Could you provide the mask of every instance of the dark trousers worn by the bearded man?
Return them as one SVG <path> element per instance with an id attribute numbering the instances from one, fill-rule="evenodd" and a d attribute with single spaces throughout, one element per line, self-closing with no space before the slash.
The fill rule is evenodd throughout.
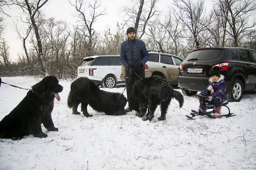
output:
<path id="1" fill-rule="evenodd" d="M 140 77 L 138 77 L 136 74 Z M 135 73 L 130 73 L 129 70 L 125 70 L 125 85 L 126 85 L 126 94 L 127 94 L 127 101 L 130 107 L 130 102 L 132 100 L 132 86 L 135 81 L 140 80 L 141 78 L 145 78 L 145 69 L 136 70 Z"/>

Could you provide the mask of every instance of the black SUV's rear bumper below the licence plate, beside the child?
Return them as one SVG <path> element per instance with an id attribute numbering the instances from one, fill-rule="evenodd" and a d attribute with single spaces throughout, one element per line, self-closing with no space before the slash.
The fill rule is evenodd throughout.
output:
<path id="1" fill-rule="evenodd" d="M 202 77 L 183 77 L 178 78 L 178 85 L 182 90 L 204 91 L 208 86 L 209 78 Z"/>

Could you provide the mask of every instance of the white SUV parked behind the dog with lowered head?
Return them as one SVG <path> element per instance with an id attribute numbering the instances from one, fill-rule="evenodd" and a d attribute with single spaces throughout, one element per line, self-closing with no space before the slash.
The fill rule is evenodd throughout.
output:
<path id="1" fill-rule="evenodd" d="M 95 55 L 85 57 L 77 68 L 78 77 L 87 77 L 95 84 L 108 88 L 124 83 L 120 79 L 122 64 L 119 55 Z"/>

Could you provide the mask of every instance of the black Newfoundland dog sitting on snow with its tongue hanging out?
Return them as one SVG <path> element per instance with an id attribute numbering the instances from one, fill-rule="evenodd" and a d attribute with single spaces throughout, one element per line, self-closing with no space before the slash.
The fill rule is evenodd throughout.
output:
<path id="1" fill-rule="evenodd" d="M 0 122 L 0 138 L 13 140 L 23 136 L 47 137 L 41 124 L 49 131 L 58 131 L 52 122 L 54 97 L 60 101 L 59 92 L 63 87 L 54 76 L 47 76 L 32 86 L 23 100 Z"/>

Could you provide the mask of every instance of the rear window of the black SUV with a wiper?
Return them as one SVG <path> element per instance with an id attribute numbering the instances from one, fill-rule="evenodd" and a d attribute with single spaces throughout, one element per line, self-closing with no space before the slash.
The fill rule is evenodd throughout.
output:
<path id="1" fill-rule="evenodd" d="M 185 58 L 185 61 L 207 61 L 215 60 L 221 57 L 224 50 L 222 49 L 204 49 L 193 51 Z"/>

